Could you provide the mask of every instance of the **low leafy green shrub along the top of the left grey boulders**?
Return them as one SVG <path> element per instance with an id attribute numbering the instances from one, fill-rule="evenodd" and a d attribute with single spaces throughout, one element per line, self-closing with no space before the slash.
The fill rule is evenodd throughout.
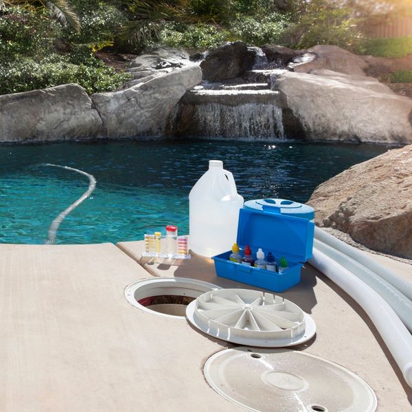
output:
<path id="1" fill-rule="evenodd" d="M 41 60 L 24 57 L 3 62 L 0 64 L 0 94 L 66 83 L 80 84 L 87 93 L 112 91 L 131 77 L 129 73 L 116 73 L 113 67 L 93 56 L 80 64 L 73 61 L 76 61 L 76 56 L 51 54 Z"/>

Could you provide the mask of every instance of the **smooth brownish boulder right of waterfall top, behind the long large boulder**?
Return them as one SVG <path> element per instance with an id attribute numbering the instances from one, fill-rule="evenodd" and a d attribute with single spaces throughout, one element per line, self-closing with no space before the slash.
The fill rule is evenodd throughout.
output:
<path id="1" fill-rule="evenodd" d="M 307 53 L 290 62 L 290 69 L 300 73 L 310 73 L 314 69 L 328 69 L 340 73 L 365 76 L 367 62 L 356 54 L 338 46 L 317 45 Z"/>

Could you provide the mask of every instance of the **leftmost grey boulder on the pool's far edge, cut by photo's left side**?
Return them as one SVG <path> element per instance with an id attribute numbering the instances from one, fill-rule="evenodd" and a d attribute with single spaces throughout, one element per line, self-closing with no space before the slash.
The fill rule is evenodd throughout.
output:
<path id="1" fill-rule="evenodd" d="M 0 141 L 97 137 L 102 120 L 78 84 L 0 95 Z"/>

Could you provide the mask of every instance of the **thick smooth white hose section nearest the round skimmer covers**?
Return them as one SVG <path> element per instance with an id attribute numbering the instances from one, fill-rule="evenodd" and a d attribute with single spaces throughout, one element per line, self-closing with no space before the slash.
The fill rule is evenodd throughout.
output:
<path id="1" fill-rule="evenodd" d="M 365 282 L 318 249 L 313 249 L 313 257 L 308 262 L 362 306 L 412 387 L 412 335 L 391 306 Z"/>

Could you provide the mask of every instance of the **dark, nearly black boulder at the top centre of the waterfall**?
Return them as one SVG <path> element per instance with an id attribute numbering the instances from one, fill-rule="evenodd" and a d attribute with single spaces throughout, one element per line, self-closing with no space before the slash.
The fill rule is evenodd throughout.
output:
<path id="1" fill-rule="evenodd" d="M 255 51 L 240 41 L 211 50 L 201 62 L 203 80 L 221 82 L 241 77 L 255 64 Z"/>

